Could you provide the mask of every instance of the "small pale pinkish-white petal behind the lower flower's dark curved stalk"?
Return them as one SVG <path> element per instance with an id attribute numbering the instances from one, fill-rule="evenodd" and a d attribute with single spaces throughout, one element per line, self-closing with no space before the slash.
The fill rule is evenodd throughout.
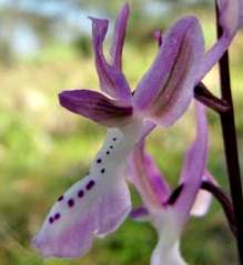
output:
<path id="1" fill-rule="evenodd" d="M 205 173 L 203 175 L 203 181 L 204 180 L 213 182 L 213 183 L 216 184 L 213 176 L 207 171 L 205 171 Z M 195 202 L 194 202 L 194 204 L 191 208 L 190 214 L 193 215 L 193 216 L 196 216 L 196 217 L 204 216 L 209 212 L 209 208 L 212 204 L 212 198 L 213 197 L 212 197 L 212 194 L 210 192 L 204 191 L 204 190 L 200 190 L 198 195 L 196 195 Z"/>

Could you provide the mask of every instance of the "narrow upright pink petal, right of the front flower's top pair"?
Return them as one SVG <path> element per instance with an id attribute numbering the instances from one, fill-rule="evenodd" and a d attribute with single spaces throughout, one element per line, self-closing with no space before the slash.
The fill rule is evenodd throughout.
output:
<path id="1" fill-rule="evenodd" d="M 130 12 L 129 3 L 125 3 L 117 18 L 114 27 L 114 38 L 111 50 L 111 57 L 112 64 L 119 70 L 122 69 L 122 49 L 124 45 L 129 12 Z"/>

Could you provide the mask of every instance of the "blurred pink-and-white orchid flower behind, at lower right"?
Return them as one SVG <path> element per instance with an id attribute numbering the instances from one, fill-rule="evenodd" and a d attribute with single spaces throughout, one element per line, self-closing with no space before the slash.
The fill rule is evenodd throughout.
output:
<path id="1" fill-rule="evenodd" d="M 183 265 L 180 255 L 180 235 L 192 215 L 206 213 L 211 194 L 200 191 L 203 180 L 211 181 L 205 170 L 207 157 L 207 124 L 204 106 L 196 104 L 196 139 L 184 156 L 180 185 L 171 192 L 152 157 L 144 151 L 141 141 L 131 154 L 130 179 L 139 191 L 145 208 L 132 212 L 134 218 L 149 220 L 158 231 L 159 243 L 153 252 L 151 265 Z"/>

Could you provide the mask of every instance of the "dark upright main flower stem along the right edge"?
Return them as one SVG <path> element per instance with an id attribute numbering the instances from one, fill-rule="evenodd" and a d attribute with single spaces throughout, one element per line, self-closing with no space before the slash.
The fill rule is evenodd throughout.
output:
<path id="1" fill-rule="evenodd" d="M 216 8 L 217 14 L 217 38 L 222 35 L 222 28 L 219 23 L 219 9 Z M 229 53 L 224 53 L 220 60 L 220 82 L 221 82 L 221 94 L 222 100 L 227 102 L 230 109 L 226 112 L 222 112 L 221 126 L 224 142 L 224 153 L 226 159 L 227 175 L 231 188 L 231 197 L 235 215 L 236 226 L 236 243 L 239 249 L 240 264 L 243 265 L 243 204 L 242 204 L 242 183 L 241 172 L 237 155 L 237 142 L 236 131 L 234 122 L 234 108 L 231 94 L 231 79 L 230 79 L 230 67 L 229 67 Z"/>

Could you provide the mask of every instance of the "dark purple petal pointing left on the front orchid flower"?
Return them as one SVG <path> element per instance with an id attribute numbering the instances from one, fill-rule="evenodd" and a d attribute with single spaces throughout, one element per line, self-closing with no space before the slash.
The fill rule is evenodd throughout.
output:
<path id="1" fill-rule="evenodd" d="M 107 126 L 124 125 L 132 115 L 131 106 L 119 105 L 103 94 L 91 90 L 71 90 L 59 94 L 60 104 L 77 114 Z"/>

